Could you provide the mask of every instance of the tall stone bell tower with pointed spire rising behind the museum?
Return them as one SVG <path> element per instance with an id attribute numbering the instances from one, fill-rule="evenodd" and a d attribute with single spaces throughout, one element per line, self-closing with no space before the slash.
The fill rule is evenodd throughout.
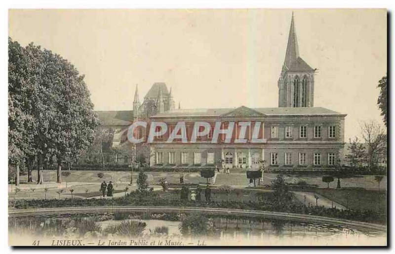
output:
<path id="1" fill-rule="evenodd" d="M 313 107 L 315 71 L 299 56 L 292 12 L 284 64 L 277 84 L 278 107 Z"/>

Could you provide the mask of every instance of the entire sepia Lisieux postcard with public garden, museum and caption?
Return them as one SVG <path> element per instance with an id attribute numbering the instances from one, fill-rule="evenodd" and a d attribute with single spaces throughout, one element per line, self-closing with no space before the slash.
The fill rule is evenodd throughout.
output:
<path id="1" fill-rule="evenodd" d="M 10 246 L 387 246 L 386 9 L 8 15 Z"/>

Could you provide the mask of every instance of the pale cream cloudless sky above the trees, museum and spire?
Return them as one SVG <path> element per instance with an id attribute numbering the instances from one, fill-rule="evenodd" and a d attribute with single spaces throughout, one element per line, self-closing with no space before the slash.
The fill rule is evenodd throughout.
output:
<path id="1" fill-rule="evenodd" d="M 300 56 L 313 68 L 315 106 L 382 123 L 385 9 L 11 9 L 9 36 L 74 64 L 95 110 L 132 110 L 155 82 L 181 108 L 277 107 L 292 11 Z"/>

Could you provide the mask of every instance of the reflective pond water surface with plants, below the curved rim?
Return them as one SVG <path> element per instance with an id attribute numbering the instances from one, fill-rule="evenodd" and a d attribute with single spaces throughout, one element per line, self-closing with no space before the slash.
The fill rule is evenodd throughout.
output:
<path id="1" fill-rule="evenodd" d="M 339 235 L 385 235 L 385 232 L 361 231 L 336 224 L 249 219 L 234 216 L 205 216 L 204 220 L 195 216 L 196 218 L 190 220 L 187 229 L 185 229 L 185 223 L 189 217 L 191 216 L 183 214 L 137 213 L 22 217 L 10 218 L 8 228 L 12 233 L 59 237 L 119 235 L 125 230 L 129 235 L 187 237 L 200 234 L 210 235 L 210 237 L 217 239 L 238 239 L 240 236 L 247 239 L 264 239 L 268 236 L 331 238 Z M 134 222 L 144 222 L 144 228 L 141 228 L 141 223 Z M 205 223 L 205 226 L 201 225 L 202 222 Z M 134 224 L 139 225 L 140 228 L 130 228 Z M 127 228 L 125 229 L 125 227 Z"/>

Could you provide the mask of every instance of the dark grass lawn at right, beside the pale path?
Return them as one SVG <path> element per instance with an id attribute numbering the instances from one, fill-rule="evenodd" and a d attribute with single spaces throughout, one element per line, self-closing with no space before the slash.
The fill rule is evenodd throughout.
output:
<path id="1" fill-rule="evenodd" d="M 387 211 L 387 191 L 316 189 L 315 192 L 355 210 Z"/>

